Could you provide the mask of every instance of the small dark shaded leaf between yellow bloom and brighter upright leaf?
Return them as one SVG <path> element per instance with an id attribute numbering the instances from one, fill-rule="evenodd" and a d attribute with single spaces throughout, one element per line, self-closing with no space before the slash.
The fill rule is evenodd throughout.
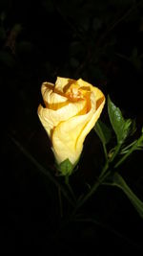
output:
<path id="1" fill-rule="evenodd" d="M 108 128 L 101 120 L 98 120 L 94 130 L 103 144 L 108 144 L 112 137 L 111 129 Z"/>

